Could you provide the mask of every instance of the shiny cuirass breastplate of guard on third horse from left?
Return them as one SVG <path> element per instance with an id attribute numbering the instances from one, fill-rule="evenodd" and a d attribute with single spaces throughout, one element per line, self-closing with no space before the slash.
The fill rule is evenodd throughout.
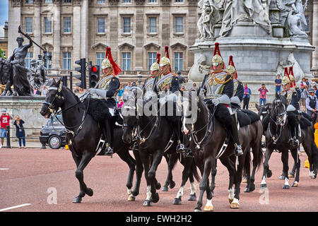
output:
<path id="1" fill-rule="evenodd" d="M 220 81 L 225 81 L 226 76 L 228 76 L 228 73 L 224 71 L 216 73 L 214 76 L 213 73 L 208 76 L 205 82 L 207 98 L 220 97 L 222 95 L 225 83 L 220 83 Z"/>

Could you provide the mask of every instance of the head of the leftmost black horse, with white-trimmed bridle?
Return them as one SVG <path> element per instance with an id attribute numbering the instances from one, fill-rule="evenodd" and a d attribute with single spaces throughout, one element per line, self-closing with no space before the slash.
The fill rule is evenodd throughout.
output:
<path id="1" fill-rule="evenodd" d="M 61 94 L 62 84 L 61 78 L 58 81 L 53 79 L 51 86 L 48 88 L 45 102 L 43 102 L 40 114 L 43 117 L 48 118 L 52 113 L 57 112 L 59 107 L 64 103 L 64 96 Z"/>

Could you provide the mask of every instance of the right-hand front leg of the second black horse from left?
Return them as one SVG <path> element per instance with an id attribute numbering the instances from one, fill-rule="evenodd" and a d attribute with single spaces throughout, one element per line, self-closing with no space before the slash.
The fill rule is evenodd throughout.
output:
<path id="1" fill-rule="evenodd" d="M 151 182 L 151 201 L 153 203 L 158 203 L 159 201 L 159 194 L 156 192 L 155 188 L 155 171 L 158 168 L 158 165 L 160 164 L 161 160 L 163 158 L 163 151 L 157 150 L 153 154 L 153 163 L 151 164 L 151 168 L 149 169 L 148 172 L 148 179 Z"/>

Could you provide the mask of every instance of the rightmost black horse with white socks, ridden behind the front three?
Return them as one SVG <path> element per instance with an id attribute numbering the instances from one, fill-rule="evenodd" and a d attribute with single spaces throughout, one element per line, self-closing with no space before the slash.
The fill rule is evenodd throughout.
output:
<path id="1" fill-rule="evenodd" d="M 290 189 L 288 179 L 288 150 L 290 150 L 295 162 L 295 182 L 292 186 L 296 187 L 299 184 L 300 173 L 300 159 L 298 156 L 298 148 L 291 145 L 289 142 L 290 129 L 288 129 L 287 118 L 287 99 L 283 95 L 278 95 L 273 100 L 272 109 L 269 117 L 269 126 L 266 130 L 266 153 L 264 161 L 264 172 L 261 181 L 261 188 L 266 187 L 266 176 L 271 177 L 271 170 L 269 170 L 269 158 L 273 150 L 278 150 L 281 153 L 281 161 L 283 162 L 283 177 L 285 184 L 283 189 Z M 303 119 L 304 120 L 304 119 Z M 317 164 L 318 164 L 318 149 L 314 143 L 314 131 L 312 130 L 312 124 L 310 123 L 301 130 L 301 136 L 299 137 L 300 143 L 305 149 L 305 152 L 310 161 L 310 177 L 317 177 Z"/>

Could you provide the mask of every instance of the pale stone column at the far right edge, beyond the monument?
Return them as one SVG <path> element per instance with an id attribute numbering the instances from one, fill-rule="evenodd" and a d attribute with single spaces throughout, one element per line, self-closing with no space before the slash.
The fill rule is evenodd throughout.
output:
<path id="1" fill-rule="evenodd" d="M 314 1 L 312 12 L 312 45 L 316 47 L 312 52 L 312 70 L 318 70 L 318 1 Z"/>

